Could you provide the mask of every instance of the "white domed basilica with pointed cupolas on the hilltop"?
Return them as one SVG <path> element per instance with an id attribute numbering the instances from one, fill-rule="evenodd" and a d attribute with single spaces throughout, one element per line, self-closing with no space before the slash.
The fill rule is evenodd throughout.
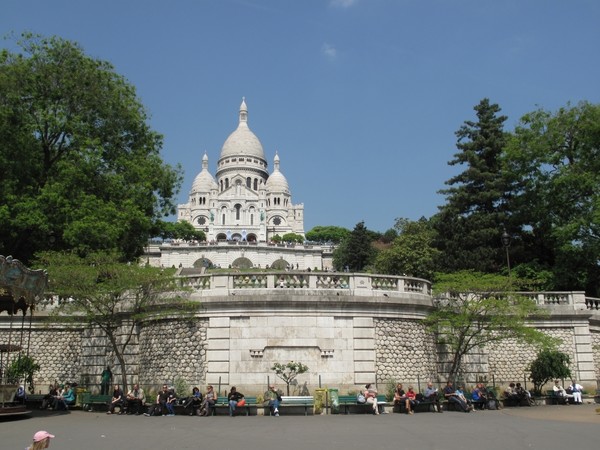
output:
<path id="1" fill-rule="evenodd" d="M 275 235 L 304 235 L 304 206 L 292 203 L 278 154 L 271 174 L 267 167 L 242 101 L 238 127 L 221 148 L 216 179 L 209 172 L 205 154 L 202 171 L 194 180 L 188 202 L 179 205 L 177 219 L 204 230 L 209 242 L 268 242 Z"/>

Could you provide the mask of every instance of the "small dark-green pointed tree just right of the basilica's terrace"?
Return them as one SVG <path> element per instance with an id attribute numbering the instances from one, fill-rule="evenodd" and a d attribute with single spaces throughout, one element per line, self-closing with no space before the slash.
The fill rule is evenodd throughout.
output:
<path id="1" fill-rule="evenodd" d="M 374 260 L 376 250 L 364 222 L 359 222 L 354 230 L 333 252 L 333 265 L 338 270 L 348 268 L 351 272 L 364 270 Z"/>

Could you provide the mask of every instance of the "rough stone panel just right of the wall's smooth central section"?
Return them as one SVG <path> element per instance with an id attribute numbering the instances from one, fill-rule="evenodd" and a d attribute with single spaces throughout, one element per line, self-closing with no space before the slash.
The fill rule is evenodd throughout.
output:
<path id="1" fill-rule="evenodd" d="M 405 385 L 437 379 L 433 336 L 418 320 L 376 319 L 378 383 L 395 380 Z"/>

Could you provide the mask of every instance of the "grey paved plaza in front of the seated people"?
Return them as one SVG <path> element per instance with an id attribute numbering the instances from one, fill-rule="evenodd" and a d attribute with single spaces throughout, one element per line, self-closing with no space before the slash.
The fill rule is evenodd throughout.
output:
<path id="1" fill-rule="evenodd" d="M 52 449 L 598 449 L 600 405 L 477 411 L 281 417 L 144 417 L 72 411 L 0 421 L 2 449 L 24 449 L 37 430 Z"/>

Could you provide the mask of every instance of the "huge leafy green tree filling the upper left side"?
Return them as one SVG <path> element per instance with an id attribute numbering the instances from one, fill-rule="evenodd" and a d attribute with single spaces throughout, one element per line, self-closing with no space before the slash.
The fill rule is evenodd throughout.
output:
<path id="1" fill-rule="evenodd" d="M 141 254 L 174 213 L 181 169 L 162 161 L 134 87 L 76 43 L 17 44 L 0 52 L 0 253 Z"/>

